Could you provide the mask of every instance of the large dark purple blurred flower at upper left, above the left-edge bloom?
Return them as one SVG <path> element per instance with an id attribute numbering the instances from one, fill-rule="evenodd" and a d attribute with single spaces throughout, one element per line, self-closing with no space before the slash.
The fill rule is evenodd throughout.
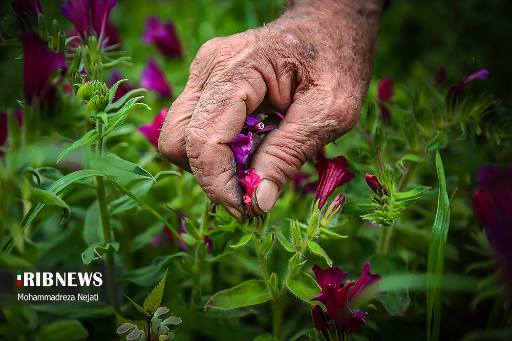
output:
<path id="1" fill-rule="evenodd" d="M 58 68 L 62 75 L 68 70 L 66 57 L 46 48 L 45 42 L 35 32 L 26 32 L 20 36 L 23 44 L 23 80 L 25 99 L 32 105 L 39 98 L 39 105 L 52 107 L 56 99 L 56 82 L 48 81 L 51 74 Z M 63 77 L 61 77 L 63 78 Z"/>

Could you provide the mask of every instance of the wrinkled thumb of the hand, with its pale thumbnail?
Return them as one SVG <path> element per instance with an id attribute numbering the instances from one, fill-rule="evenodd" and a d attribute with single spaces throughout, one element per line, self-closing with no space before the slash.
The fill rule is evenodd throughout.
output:
<path id="1" fill-rule="evenodd" d="M 251 164 L 261 177 L 253 194 L 255 213 L 270 211 L 304 163 L 357 123 L 359 115 L 347 98 L 333 93 L 309 90 L 290 105 L 279 127 L 263 139 Z"/>

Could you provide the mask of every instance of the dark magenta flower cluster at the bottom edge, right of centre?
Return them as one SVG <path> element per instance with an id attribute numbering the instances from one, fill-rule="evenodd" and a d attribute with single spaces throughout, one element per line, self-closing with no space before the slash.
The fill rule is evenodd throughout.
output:
<path id="1" fill-rule="evenodd" d="M 386 290 L 380 289 L 382 277 L 370 273 L 370 263 L 365 263 L 364 271 L 357 282 L 347 282 L 345 285 L 342 282 L 348 271 L 343 272 L 337 266 L 323 269 L 315 264 L 313 272 L 322 291 L 311 301 L 319 301 L 325 305 L 340 339 L 344 339 L 345 334 L 353 333 L 360 325 L 366 324 L 367 317 L 364 311 L 352 307 L 372 296 L 387 293 Z"/>

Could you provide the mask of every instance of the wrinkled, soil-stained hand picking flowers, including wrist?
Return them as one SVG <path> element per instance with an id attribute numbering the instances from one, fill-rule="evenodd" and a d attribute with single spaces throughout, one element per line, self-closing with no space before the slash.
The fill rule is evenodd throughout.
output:
<path id="1" fill-rule="evenodd" d="M 227 144 L 245 117 L 262 102 L 285 115 L 250 165 L 262 178 L 253 209 L 264 214 L 310 157 L 354 127 L 372 75 L 382 0 L 290 5 L 264 27 L 207 41 L 160 134 L 160 153 L 239 220 L 247 214 Z"/>

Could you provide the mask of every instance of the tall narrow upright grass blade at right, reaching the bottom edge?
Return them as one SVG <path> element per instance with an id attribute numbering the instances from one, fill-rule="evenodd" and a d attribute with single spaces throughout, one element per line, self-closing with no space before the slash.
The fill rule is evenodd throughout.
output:
<path id="1" fill-rule="evenodd" d="M 430 239 L 426 278 L 426 339 L 433 339 L 434 341 L 439 339 L 444 244 L 446 243 L 450 226 L 450 202 L 446 191 L 446 179 L 439 151 L 436 154 L 436 168 L 439 177 L 439 199 Z"/>

